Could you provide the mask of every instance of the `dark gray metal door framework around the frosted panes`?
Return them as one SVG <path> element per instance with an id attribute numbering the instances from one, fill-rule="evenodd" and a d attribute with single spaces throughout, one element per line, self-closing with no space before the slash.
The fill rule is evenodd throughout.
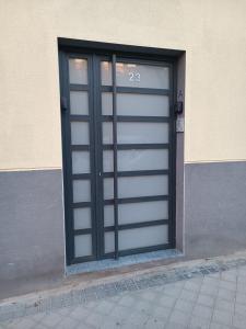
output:
<path id="1" fill-rule="evenodd" d="M 125 54 L 125 53 L 116 53 L 116 52 L 104 52 L 101 50 L 94 52 L 94 49 L 77 49 L 77 52 L 70 53 L 66 49 L 60 50 L 59 53 L 59 63 L 60 63 L 60 90 L 61 97 L 67 100 L 67 110 L 63 109 L 61 113 L 62 121 L 62 151 L 63 151 L 63 177 L 65 177 L 65 212 L 66 212 L 66 236 L 67 236 L 67 263 L 78 263 L 82 261 L 91 261 L 103 258 L 118 258 L 118 256 L 137 253 L 137 252 L 145 252 L 157 249 L 173 248 L 175 247 L 175 163 L 176 163 L 176 133 L 175 133 L 175 113 L 174 113 L 174 95 L 176 92 L 176 66 L 175 58 L 165 58 L 163 56 L 145 56 L 142 54 Z M 72 50 L 75 50 L 74 48 Z M 106 53 L 106 54 L 105 54 Z M 105 57 L 106 55 L 106 57 Z M 89 63 L 89 86 L 69 86 L 68 83 L 68 57 L 81 57 L 87 58 Z M 99 63 L 102 58 L 107 58 L 113 61 L 113 87 L 102 87 L 101 86 L 101 72 L 99 72 Z M 116 86 L 116 58 L 120 61 L 127 63 L 145 63 L 151 65 L 160 65 L 164 63 L 165 66 L 169 67 L 171 73 L 171 88 L 169 90 L 163 90 L 162 94 L 169 95 L 169 117 L 154 117 L 154 116 L 117 116 L 116 109 L 116 93 L 117 92 L 136 92 L 133 88 L 127 87 L 117 87 Z M 172 60 L 171 60 L 172 59 Z M 90 115 L 69 115 L 69 91 L 70 90 L 86 90 L 89 92 L 89 110 Z M 101 92 L 102 91 L 113 91 L 113 117 L 105 116 L 104 118 L 101 115 Z M 155 93 L 159 94 L 160 90 L 141 90 L 138 88 L 137 92 L 140 93 Z M 84 121 L 90 123 L 90 146 L 71 146 L 71 132 L 70 132 L 70 122 L 71 121 Z M 113 122 L 114 126 L 114 144 L 112 145 L 102 145 L 102 122 L 108 121 Z M 117 122 L 168 122 L 169 123 L 169 143 L 167 145 L 162 144 L 140 144 L 140 145 L 117 145 Z M 114 173 L 103 173 L 103 160 L 102 155 L 104 149 L 112 149 L 114 151 L 114 169 L 117 169 L 117 150 L 118 149 L 160 149 L 160 148 L 168 148 L 169 151 L 169 169 L 167 170 L 145 170 L 145 171 L 134 171 L 134 172 L 118 172 L 114 170 Z M 91 158 L 91 173 L 83 174 L 71 174 L 71 150 L 72 149 L 84 149 L 90 150 Z M 94 172 L 94 174 L 93 174 Z M 149 175 L 149 174 L 160 174 L 160 173 L 168 173 L 168 189 L 172 191 L 172 196 L 168 193 L 168 196 L 165 195 L 156 195 L 156 196 L 141 196 L 141 197 L 128 197 L 128 198 L 118 198 L 118 186 L 117 180 L 118 177 L 127 177 L 127 175 Z M 105 177 L 114 178 L 114 201 L 112 200 L 103 200 L 103 179 Z M 79 203 L 74 204 L 72 202 L 72 178 L 73 179 L 91 179 L 91 203 Z M 118 251 L 118 230 L 127 229 L 127 228 L 137 228 L 144 227 L 150 225 L 157 225 L 166 223 L 166 219 L 153 220 L 151 223 L 139 224 L 127 224 L 127 225 L 118 225 L 118 204 L 119 203 L 130 203 L 136 201 L 159 201 L 159 200 L 168 200 L 168 236 L 169 242 L 168 245 L 163 246 L 153 246 L 134 249 L 133 252 L 131 250 L 127 251 Z M 113 204 L 115 212 L 115 225 L 114 227 L 104 227 L 104 205 Z M 72 209 L 73 207 L 81 206 L 91 206 L 92 211 L 92 228 L 91 229 L 73 229 L 73 218 L 72 218 Z M 115 231 L 115 252 L 113 253 L 104 253 L 104 234 L 106 231 Z M 83 235 L 83 234 L 92 234 L 93 237 L 93 256 L 83 257 L 83 258 L 74 258 L 74 235 Z"/>

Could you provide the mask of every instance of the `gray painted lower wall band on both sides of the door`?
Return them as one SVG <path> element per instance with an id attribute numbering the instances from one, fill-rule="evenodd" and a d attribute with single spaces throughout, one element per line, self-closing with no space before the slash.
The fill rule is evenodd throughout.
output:
<path id="1" fill-rule="evenodd" d="M 61 170 L 1 172 L 0 186 L 0 298 L 56 286 L 65 275 Z M 246 162 L 186 164 L 184 225 L 179 206 L 186 259 L 246 249 Z"/>

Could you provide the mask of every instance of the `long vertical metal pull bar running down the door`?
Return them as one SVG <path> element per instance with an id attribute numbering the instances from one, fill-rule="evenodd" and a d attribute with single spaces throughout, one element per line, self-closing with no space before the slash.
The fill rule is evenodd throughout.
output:
<path id="1" fill-rule="evenodd" d="M 116 55 L 112 58 L 113 83 L 113 144 L 114 144 L 114 215 L 115 215 L 115 259 L 118 259 L 118 166 L 117 166 L 117 104 L 116 104 Z"/>

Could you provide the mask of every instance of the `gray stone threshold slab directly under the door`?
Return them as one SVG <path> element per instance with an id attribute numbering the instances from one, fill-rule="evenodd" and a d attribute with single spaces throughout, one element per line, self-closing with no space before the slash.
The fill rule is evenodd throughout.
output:
<path id="1" fill-rule="evenodd" d="M 177 249 L 167 249 L 151 251 L 138 254 L 119 257 L 119 259 L 104 259 L 98 261 L 90 261 L 80 264 L 72 264 L 66 268 L 66 275 L 81 274 L 89 272 L 99 272 L 105 270 L 119 269 L 128 265 L 147 263 L 152 261 L 168 260 L 183 257 L 184 253 Z"/>

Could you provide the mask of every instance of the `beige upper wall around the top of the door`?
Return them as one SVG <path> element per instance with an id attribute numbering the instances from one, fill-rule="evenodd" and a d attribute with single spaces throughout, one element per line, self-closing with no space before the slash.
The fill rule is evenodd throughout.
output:
<path id="1" fill-rule="evenodd" d="M 186 50 L 185 160 L 246 160 L 246 0 L 0 0 L 0 170 L 61 167 L 57 37 Z"/>

